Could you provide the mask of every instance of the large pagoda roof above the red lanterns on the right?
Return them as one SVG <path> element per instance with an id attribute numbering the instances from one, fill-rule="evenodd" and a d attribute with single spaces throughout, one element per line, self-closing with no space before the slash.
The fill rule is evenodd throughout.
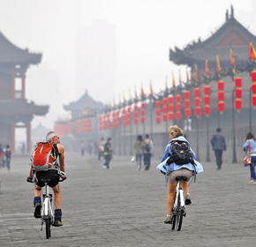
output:
<path id="1" fill-rule="evenodd" d="M 216 56 L 230 64 L 230 49 L 233 50 L 236 63 L 248 61 L 250 53 L 250 42 L 256 46 L 256 36 L 251 34 L 245 26 L 242 26 L 234 18 L 234 12 L 231 9 L 230 19 L 226 15 L 226 22 L 211 35 L 206 41 L 193 41 L 184 49 L 169 49 L 169 60 L 175 64 L 205 64 L 206 59 L 216 63 Z"/>

